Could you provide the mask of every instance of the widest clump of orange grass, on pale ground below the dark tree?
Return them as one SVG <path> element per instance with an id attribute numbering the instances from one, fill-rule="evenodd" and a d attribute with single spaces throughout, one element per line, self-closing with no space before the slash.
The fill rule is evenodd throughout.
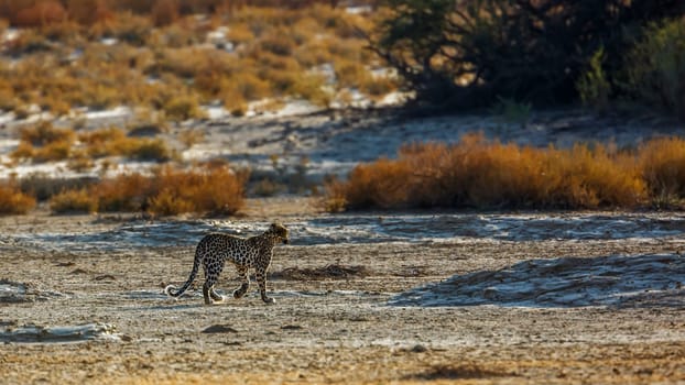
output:
<path id="1" fill-rule="evenodd" d="M 325 207 L 330 211 L 634 208 L 650 198 L 653 183 L 644 178 L 643 170 L 645 164 L 655 165 L 638 160 L 649 157 L 659 145 L 646 145 L 635 155 L 601 144 L 521 147 L 488 141 L 481 134 L 466 135 L 453 145 L 409 144 L 396 160 L 358 165 L 347 180 L 328 183 Z"/>

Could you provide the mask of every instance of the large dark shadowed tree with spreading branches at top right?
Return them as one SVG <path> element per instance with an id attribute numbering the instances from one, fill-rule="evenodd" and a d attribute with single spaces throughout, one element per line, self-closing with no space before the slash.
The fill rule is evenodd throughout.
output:
<path id="1" fill-rule="evenodd" d="M 482 107 L 578 98 L 576 82 L 604 47 L 608 73 L 650 21 L 685 12 L 677 0 L 388 0 L 372 46 L 417 100 Z"/>

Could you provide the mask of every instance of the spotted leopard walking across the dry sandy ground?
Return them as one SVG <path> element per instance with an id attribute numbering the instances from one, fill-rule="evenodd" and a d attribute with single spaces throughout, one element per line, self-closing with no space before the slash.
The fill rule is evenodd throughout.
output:
<path id="1" fill-rule="evenodd" d="M 271 223 L 264 233 L 250 238 L 216 232 L 206 234 L 195 249 L 195 260 L 188 279 L 181 288 L 174 285 L 166 286 L 164 293 L 172 297 L 178 297 L 185 293 L 195 282 L 202 264 L 205 271 L 205 284 L 203 285 L 205 304 L 222 302 L 226 298 L 216 293 L 214 286 L 224 271 L 226 261 L 229 261 L 236 266 L 241 279 L 240 287 L 233 290 L 233 298 L 241 298 L 248 293 L 250 288 L 249 273 L 250 270 L 254 270 L 262 300 L 265 304 L 275 304 L 274 298 L 267 296 L 267 273 L 273 257 L 273 249 L 280 242 L 289 244 L 290 232 L 285 226 L 279 222 Z"/>

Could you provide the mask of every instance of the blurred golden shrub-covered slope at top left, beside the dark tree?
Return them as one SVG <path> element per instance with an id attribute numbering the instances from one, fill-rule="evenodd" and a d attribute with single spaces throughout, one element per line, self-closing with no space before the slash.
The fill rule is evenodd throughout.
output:
<path id="1" fill-rule="evenodd" d="M 265 108 L 283 97 L 328 106 L 350 87 L 372 98 L 396 87 L 369 72 L 380 62 L 363 47 L 362 16 L 323 4 L 187 3 L 6 1 L 0 18 L 25 29 L 4 43 L 0 108 L 22 117 L 37 106 L 58 117 L 132 105 L 178 121 L 202 118 L 199 106 L 216 101 L 242 114 L 264 98 L 275 105 Z M 193 10 L 213 13 L 185 14 Z M 331 66 L 335 82 L 320 66 Z"/>

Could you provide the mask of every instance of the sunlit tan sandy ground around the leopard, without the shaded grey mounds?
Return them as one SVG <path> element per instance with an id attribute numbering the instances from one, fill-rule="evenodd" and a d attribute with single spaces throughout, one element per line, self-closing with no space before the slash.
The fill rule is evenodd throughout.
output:
<path id="1" fill-rule="evenodd" d="M 250 207 L 241 221 L 317 216 L 304 200 Z M 2 218 L 0 230 L 105 231 L 126 220 L 36 212 Z M 185 246 L 83 255 L 3 244 L 0 279 L 25 284 L 26 294 L 0 302 L 0 383 L 685 382 L 681 306 L 388 305 L 399 293 L 455 274 L 530 258 L 674 253 L 682 242 L 293 243 L 275 250 L 273 306 L 254 287 L 215 306 L 203 305 L 197 292 L 163 296 L 166 284 L 187 277 L 192 250 Z M 330 265 L 340 268 L 323 268 Z M 229 268 L 220 289 L 233 286 Z M 10 341 L 9 331 L 31 324 L 108 324 L 109 332 L 70 343 Z"/>

